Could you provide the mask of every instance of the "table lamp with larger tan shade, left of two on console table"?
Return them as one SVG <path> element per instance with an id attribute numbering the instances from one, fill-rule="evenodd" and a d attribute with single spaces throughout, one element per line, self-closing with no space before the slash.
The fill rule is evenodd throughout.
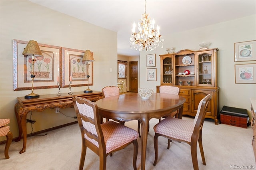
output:
<path id="1" fill-rule="evenodd" d="M 34 99 L 34 98 L 38 98 L 39 95 L 35 94 L 34 93 L 34 89 L 33 89 L 33 81 L 34 81 L 34 78 L 35 78 L 35 75 L 34 75 L 34 61 L 36 61 L 35 59 L 35 56 L 38 57 L 38 56 L 43 56 L 42 55 L 42 52 L 38 46 L 38 43 L 34 40 L 30 40 L 26 46 L 26 48 L 24 49 L 23 55 L 28 55 L 28 56 L 32 56 L 32 73 L 30 75 L 31 79 L 32 79 L 32 91 L 30 94 L 26 95 L 25 96 L 25 99 Z"/>

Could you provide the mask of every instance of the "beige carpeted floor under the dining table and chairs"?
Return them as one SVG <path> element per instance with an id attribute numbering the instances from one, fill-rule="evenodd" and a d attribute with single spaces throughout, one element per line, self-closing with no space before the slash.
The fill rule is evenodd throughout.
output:
<path id="1" fill-rule="evenodd" d="M 182 119 L 193 121 L 190 117 Z M 125 123 L 136 129 L 138 121 Z M 172 142 L 167 150 L 167 139 L 158 139 L 158 163 L 154 162 L 154 130 L 158 119 L 150 120 L 150 131 L 146 151 L 146 170 L 192 170 L 190 146 L 186 143 Z M 31 136 L 27 140 L 26 152 L 19 154 L 23 141 L 12 142 L 9 149 L 10 159 L 4 158 L 4 144 L 0 145 L 0 170 L 77 170 L 81 153 L 81 134 L 78 124 L 52 130 L 45 136 Z M 202 131 L 202 141 L 206 166 L 198 150 L 200 170 L 255 169 L 256 163 L 252 150 L 251 127 L 239 128 L 229 125 L 214 125 L 206 119 Z M 139 152 L 137 168 L 141 169 L 141 140 L 138 138 Z M 112 157 L 107 158 L 107 170 L 132 170 L 133 146 L 130 145 Z M 248 166 L 248 167 L 246 167 Z M 250 168 L 251 166 L 251 168 Z M 236 167 L 236 168 L 235 168 Z M 99 157 L 87 149 L 84 170 L 99 169 Z"/>

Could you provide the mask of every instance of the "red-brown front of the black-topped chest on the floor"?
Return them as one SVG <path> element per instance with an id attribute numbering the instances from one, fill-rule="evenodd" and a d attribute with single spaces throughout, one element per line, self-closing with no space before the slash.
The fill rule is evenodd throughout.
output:
<path id="1" fill-rule="evenodd" d="M 224 115 L 220 113 L 220 123 L 236 127 L 247 128 L 247 117 Z"/>

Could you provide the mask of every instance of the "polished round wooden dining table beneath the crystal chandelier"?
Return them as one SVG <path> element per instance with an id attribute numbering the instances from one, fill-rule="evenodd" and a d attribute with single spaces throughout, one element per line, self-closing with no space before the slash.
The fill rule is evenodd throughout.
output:
<path id="1" fill-rule="evenodd" d="M 159 119 L 170 115 L 175 110 L 178 110 L 178 117 L 181 119 L 185 101 L 184 97 L 165 93 L 153 93 L 149 99 L 142 99 L 138 93 L 128 93 L 100 99 L 96 104 L 102 118 L 140 121 L 142 125 L 141 169 L 145 170 L 150 119 Z"/>

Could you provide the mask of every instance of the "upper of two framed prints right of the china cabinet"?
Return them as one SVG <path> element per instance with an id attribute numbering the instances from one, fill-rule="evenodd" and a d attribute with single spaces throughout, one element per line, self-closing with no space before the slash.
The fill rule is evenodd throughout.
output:
<path id="1" fill-rule="evenodd" d="M 234 43 L 236 61 L 256 61 L 256 40 Z"/>

